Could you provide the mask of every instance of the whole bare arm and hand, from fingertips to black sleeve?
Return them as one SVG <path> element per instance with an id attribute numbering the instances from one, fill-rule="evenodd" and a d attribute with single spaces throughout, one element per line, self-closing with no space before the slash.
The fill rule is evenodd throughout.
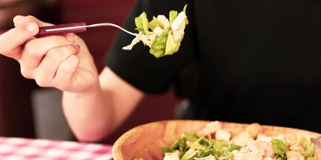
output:
<path id="1" fill-rule="evenodd" d="M 99 141 L 121 124 L 143 93 L 109 68 L 98 75 L 85 42 L 74 34 L 34 38 L 38 26 L 32 16 L 16 16 L 15 28 L 0 35 L 0 54 L 16 59 L 22 75 L 42 87 L 64 91 L 63 107 L 79 141 Z"/>

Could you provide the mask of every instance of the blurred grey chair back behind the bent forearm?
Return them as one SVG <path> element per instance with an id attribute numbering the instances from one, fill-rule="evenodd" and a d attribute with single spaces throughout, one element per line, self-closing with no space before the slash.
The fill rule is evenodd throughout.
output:
<path id="1" fill-rule="evenodd" d="M 56 88 L 33 90 L 31 100 L 37 139 L 75 140 L 64 116 L 62 95 Z"/>

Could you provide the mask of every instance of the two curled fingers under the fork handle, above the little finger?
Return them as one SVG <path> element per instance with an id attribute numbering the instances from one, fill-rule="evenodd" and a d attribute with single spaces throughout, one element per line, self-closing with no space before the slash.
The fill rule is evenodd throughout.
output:
<path id="1" fill-rule="evenodd" d="M 18 60 L 26 78 L 47 81 L 54 77 L 59 63 L 79 52 L 74 34 L 48 36 L 29 41 Z M 41 75 L 41 76 L 39 76 Z"/>

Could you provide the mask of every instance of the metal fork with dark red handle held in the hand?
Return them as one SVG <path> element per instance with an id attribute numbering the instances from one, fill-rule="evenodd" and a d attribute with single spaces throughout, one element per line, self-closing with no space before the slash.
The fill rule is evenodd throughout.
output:
<path id="1" fill-rule="evenodd" d="M 151 35 L 142 35 L 142 34 L 138 34 L 138 33 L 133 33 L 133 32 L 130 32 L 130 31 L 118 26 L 118 25 L 108 23 L 108 22 L 99 23 L 99 24 L 92 24 L 92 25 L 87 25 L 86 22 L 76 22 L 76 23 L 71 23 L 71 24 L 39 27 L 39 32 L 35 37 L 44 37 L 44 36 L 49 36 L 49 35 L 61 35 L 61 34 L 67 34 L 67 33 L 85 32 L 85 31 L 87 31 L 87 28 L 101 27 L 101 26 L 116 27 L 116 28 L 121 29 L 122 31 L 130 34 L 130 35 L 133 35 L 133 36 L 140 36 L 140 37 L 151 36 Z M 7 32 L 7 31 L 8 30 L 1 30 L 0 35 Z"/>

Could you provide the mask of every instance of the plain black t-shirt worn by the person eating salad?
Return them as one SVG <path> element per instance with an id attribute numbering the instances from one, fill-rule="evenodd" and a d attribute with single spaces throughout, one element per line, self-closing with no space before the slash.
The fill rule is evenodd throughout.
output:
<path id="1" fill-rule="evenodd" d="M 143 11 L 168 17 L 185 4 L 190 23 L 177 53 L 155 58 L 142 42 L 124 51 L 134 37 L 121 32 L 106 65 L 143 92 L 162 93 L 192 63 L 196 83 L 180 85 L 196 88 L 192 119 L 321 132 L 321 2 L 141 0 L 124 27 L 134 29 Z"/>

